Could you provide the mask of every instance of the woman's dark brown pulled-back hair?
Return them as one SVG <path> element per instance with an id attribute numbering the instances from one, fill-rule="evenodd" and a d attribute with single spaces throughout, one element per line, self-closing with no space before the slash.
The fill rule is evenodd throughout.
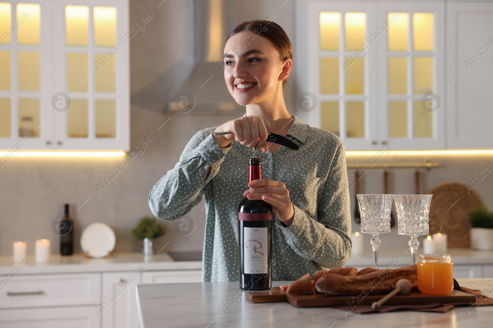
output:
<path id="1" fill-rule="evenodd" d="M 248 30 L 252 33 L 255 33 L 253 35 L 253 38 L 256 35 L 261 35 L 271 41 L 272 45 L 276 50 L 279 52 L 279 60 L 285 60 L 286 58 L 290 58 L 291 60 L 293 59 L 293 50 L 291 48 L 291 42 L 289 41 L 289 38 L 286 35 L 286 32 L 282 30 L 282 27 L 280 27 L 278 24 L 270 21 L 270 20 L 250 20 L 243 22 L 239 24 L 236 28 L 231 30 L 228 34 L 228 38 L 226 39 L 229 40 L 230 37 L 233 35 Z M 251 34 L 250 34 L 251 35 Z M 249 39 L 249 38 L 248 38 Z M 287 79 L 289 76 L 287 76 L 284 80 L 282 80 L 282 91 L 286 89 L 286 83 Z"/>

